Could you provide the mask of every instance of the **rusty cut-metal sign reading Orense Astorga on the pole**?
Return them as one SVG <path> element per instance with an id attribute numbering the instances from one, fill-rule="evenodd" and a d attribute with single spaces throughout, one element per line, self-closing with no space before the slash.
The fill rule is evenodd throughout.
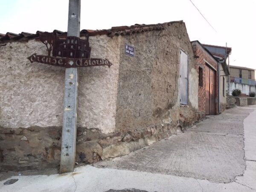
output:
<path id="1" fill-rule="evenodd" d="M 90 58 L 89 35 L 86 34 L 85 37 L 85 40 L 74 36 L 60 39 L 54 33 L 44 32 L 39 39 L 46 45 L 48 55 L 34 53 L 27 59 L 31 63 L 38 62 L 60 67 L 110 67 L 112 64 L 108 59 Z"/>

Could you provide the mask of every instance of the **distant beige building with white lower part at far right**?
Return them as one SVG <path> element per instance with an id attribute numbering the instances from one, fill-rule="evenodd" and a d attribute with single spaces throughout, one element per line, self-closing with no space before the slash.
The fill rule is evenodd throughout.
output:
<path id="1" fill-rule="evenodd" d="M 230 95 L 234 89 L 240 89 L 244 95 L 256 92 L 255 82 L 254 69 L 230 65 Z"/>

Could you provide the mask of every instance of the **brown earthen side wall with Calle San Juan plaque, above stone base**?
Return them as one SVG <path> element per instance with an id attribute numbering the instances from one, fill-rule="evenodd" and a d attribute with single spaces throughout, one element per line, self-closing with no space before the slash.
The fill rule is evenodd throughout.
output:
<path id="1" fill-rule="evenodd" d="M 124 36 L 135 47 L 135 57 L 120 54 L 116 128 L 143 129 L 162 122 L 180 124 L 180 116 L 195 119 L 198 74 L 184 23 L 166 24 L 165 30 Z M 189 105 L 180 108 L 180 49 L 189 55 Z M 140 56 L 139 56 L 140 55 Z"/>

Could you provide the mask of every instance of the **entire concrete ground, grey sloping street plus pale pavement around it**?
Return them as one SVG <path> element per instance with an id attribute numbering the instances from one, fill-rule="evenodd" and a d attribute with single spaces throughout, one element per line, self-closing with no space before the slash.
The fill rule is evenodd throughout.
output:
<path id="1" fill-rule="evenodd" d="M 70 174 L 13 176 L 19 180 L 1 181 L 0 191 L 250 192 L 256 191 L 255 151 L 254 105 L 226 110 L 183 134 Z"/>

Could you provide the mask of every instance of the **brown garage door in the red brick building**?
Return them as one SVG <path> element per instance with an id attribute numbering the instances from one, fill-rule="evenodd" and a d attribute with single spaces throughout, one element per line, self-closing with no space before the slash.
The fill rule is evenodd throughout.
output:
<path id="1" fill-rule="evenodd" d="M 207 115 L 215 114 L 215 71 L 205 67 L 205 113 Z"/>

